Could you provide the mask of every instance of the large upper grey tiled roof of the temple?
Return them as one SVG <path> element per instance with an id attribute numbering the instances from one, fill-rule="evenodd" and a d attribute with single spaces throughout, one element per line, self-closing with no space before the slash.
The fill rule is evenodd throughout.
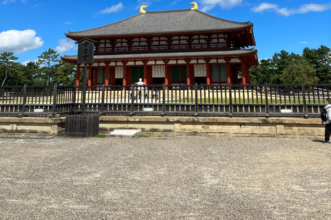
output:
<path id="1" fill-rule="evenodd" d="M 252 25 L 250 21 L 228 21 L 213 17 L 210 14 L 205 14 L 199 10 L 166 10 L 136 14 L 128 19 L 99 28 L 68 32 L 66 36 L 118 36 L 128 34 L 233 30 L 251 27 Z"/>

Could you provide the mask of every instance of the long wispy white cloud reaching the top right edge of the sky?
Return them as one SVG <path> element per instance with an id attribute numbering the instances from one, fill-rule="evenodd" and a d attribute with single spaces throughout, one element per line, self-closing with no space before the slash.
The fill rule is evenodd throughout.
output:
<path id="1" fill-rule="evenodd" d="M 305 4 L 301 5 L 298 9 L 288 9 L 288 8 L 280 8 L 277 4 L 272 3 L 261 3 L 259 6 L 252 8 L 253 12 L 263 13 L 265 10 L 271 10 L 281 14 L 283 16 L 289 17 L 293 14 L 305 14 L 308 12 L 323 12 L 325 10 L 331 9 L 331 3 L 325 4 Z"/>

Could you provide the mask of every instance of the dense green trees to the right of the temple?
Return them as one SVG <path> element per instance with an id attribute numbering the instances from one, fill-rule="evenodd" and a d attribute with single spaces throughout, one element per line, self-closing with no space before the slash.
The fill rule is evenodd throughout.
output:
<path id="1" fill-rule="evenodd" d="M 331 83 L 330 48 L 305 47 L 302 56 L 282 50 L 251 67 L 250 78 L 256 84 Z"/>

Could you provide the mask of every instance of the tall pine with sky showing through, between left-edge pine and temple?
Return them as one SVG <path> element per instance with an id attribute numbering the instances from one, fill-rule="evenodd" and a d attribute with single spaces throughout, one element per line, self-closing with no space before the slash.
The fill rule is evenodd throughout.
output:
<path id="1" fill-rule="evenodd" d="M 41 76 L 43 76 L 43 79 L 46 80 L 46 85 L 49 85 L 50 78 L 52 78 L 57 70 L 56 67 L 59 62 L 59 54 L 50 48 L 48 51 L 43 52 L 41 56 L 38 56 L 38 58 L 38 64 L 45 65 L 41 68 Z"/>

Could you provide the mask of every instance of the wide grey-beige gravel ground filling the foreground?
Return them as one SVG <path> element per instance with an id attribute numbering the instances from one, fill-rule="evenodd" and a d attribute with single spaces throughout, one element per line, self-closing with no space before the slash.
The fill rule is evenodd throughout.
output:
<path id="1" fill-rule="evenodd" d="M 331 219 L 331 144 L 0 138 L 0 219 Z"/>

